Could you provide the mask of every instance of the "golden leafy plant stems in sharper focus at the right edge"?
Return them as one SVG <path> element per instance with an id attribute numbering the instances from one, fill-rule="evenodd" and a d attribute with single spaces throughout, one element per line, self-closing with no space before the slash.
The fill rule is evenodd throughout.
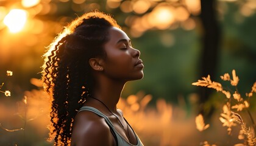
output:
<path id="1" fill-rule="evenodd" d="M 240 123 L 241 126 L 241 132 L 244 134 L 244 136 L 247 137 L 247 139 L 244 139 L 244 144 L 236 144 L 237 145 L 256 145 L 256 138 L 255 138 L 255 122 L 254 119 L 249 111 L 249 100 L 253 96 L 253 93 L 256 92 L 256 82 L 252 86 L 252 89 L 249 93 L 246 93 L 246 97 L 241 97 L 240 92 L 238 92 L 238 82 L 239 78 L 236 75 L 235 70 L 232 71 L 232 78 L 230 78 L 230 75 L 228 73 L 221 75 L 221 79 L 224 81 L 229 81 L 230 85 L 235 87 L 235 91 L 231 91 L 231 89 L 225 89 L 221 83 L 213 82 L 210 79 L 210 75 L 208 77 L 202 77 L 203 80 L 198 80 L 197 82 L 192 83 L 192 85 L 195 86 L 206 86 L 207 88 L 213 88 L 217 92 L 220 91 L 226 96 L 226 103 L 222 106 L 222 113 L 219 117 L 219 120 L 222 122 L 223 127 L 227 127 L 227 132 L 230 135 L 232 133 L 232 127 L 236 126 L 236 123 Z M 231 92 L 233 92 L 231 94 Z M 246 128 L 245 123 L 243 122 L 242 117 L 240 114 L 235 113 L 233 110 L 236 109 L 236 112 L 238 111 L 247 111 L 251 118 L 252 127 L 254 128 L 254 131 L 251 130 L 251 128 Z M 202 118 L 202 115 L 199 114 L 199 116 L 196 117 L 196 126 L 199 131 L 203 131 L 207 126 L 205 126 L 204 120 Z M 240 136 L 241 137 L 241 136 Z M 238 138 L 240 138 L 238 137 Z M 209 145 L 208 142 L 203 145 Z"/>

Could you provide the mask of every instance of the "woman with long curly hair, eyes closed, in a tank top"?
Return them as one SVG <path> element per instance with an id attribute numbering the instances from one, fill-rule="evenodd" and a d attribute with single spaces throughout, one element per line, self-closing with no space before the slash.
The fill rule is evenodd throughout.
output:
<path id="1" fill-rule="evenodd" d="M 75 19 L 44 55 L 55 145 L 143 145 L 116 108 L 126 82 L 143 78 L 140 51 L 110 15 Z"/>

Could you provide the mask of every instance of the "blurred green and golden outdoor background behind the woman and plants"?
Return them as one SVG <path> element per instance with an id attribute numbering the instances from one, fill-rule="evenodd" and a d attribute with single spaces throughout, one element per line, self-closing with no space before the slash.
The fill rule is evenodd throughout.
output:
<path id="1" fill-rule="evenodd" d="M 145 145 L 235 144 L 215 114 L 224 100 L 191 83 L 208 74 L 219 82 L 235 69 L 241 95 L 251 91 L 255 0 L 0 0 L 0 83 L 12 95 L 0 94 L 0 145 L 52 145 L 42 55 L 63 26 L 94 9 L 111 13 L 141 52 L 144 78 L 127 83 L 119 108 Z M 219 128 L 199 133 L 198 113 Z"/>

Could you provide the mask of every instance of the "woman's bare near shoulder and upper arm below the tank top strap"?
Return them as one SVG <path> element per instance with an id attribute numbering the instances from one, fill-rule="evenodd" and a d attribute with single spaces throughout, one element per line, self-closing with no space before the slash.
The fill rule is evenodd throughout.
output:
<path id="1" fill-rule="evenodd" d="M 74 119 L 71 145 L 113 145 L 113 135 L 105 119 L 91 111 L 80 111 Z"/>

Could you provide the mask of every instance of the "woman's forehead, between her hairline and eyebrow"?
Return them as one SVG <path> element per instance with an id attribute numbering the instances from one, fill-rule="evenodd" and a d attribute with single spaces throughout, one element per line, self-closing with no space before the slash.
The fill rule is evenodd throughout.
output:
<path id="1" fill-rule="evenodd" d="M 119 40 L 127 40 L 129 41 L 130 38 L 127 36 L 127 34 L 117 27 L 110 27 L 108 30 L 109 33 L 109 41 L 108 43 L 118 43 Z"/>

